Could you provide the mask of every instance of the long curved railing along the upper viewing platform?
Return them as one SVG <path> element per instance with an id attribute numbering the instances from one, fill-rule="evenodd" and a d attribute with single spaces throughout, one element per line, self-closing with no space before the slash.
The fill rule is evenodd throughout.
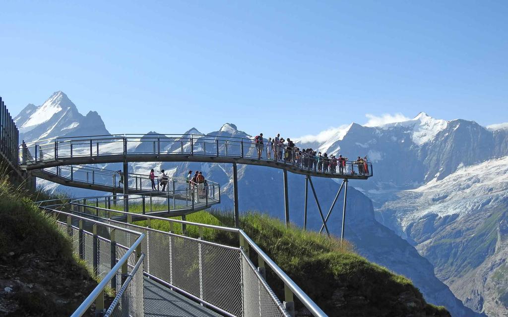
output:
<path id="1" fill-rule="evenodd" d="M 64 158 L 115 155 L 160 158 L 180 155 L 263 160 L 323 175 L 373 175 L 370 162 L 355 160 L 341 161 L 342 164 L 339 164 L 338 158 L 310 155 L 296 147 L 272 144 L 267 140 L 257 144 L 251 138 L 213 135 L 125 134 L 56 138 L 22 144 L 19 152 L 20 164 L 25 166 Z"/>

